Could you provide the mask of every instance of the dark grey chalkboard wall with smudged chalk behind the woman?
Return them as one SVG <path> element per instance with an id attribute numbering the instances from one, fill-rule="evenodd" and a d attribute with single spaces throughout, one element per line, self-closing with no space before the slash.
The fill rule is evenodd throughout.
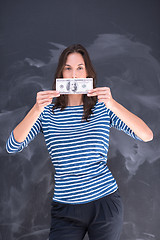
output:
<path id="1" fill-rule="evenodd" d="M 154 132 L 143 143 L 112 129 L 109 167 L 125 208 L 121 240 L 160 240 L 159 11 L 159 0 L 1 1 L 0 240 L 48 239 L 54 168 L 43 136 L 18 154 L 5 143 L 72 43 L 89 51 L 98 86 Z"/>

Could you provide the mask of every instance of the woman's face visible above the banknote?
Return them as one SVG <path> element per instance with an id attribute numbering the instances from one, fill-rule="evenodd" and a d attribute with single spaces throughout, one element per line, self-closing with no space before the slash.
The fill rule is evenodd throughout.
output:
<path id="1" fill-rule="evenodd" d="M 86 78 L 85 62 L 80 53 L 70 53 L 62 71 L 63 78 Z"/>

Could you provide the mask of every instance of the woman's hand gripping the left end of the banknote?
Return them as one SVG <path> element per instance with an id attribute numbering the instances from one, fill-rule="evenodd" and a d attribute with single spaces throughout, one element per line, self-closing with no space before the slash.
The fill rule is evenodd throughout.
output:
<path id="1" fill-rule="evenodd" d="M 52 103 L 54 97 L 59 97 L 60 93 L 55 90 L 40 91 L 37 93 L 35 108 L 43 112 L 44 107 Z"/>

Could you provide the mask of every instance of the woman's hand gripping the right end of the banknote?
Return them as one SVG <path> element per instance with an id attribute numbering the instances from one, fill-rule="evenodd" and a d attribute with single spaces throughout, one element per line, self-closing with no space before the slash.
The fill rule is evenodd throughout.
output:
<path id="1" fill-rule="evenodd" d="M 108 87 L 99 87 L 89 90 L 87 96 L 97 96 L 98 102 L 104 102 L 107 108 L 110 108 L 113 103 L 111 90 Z"/>

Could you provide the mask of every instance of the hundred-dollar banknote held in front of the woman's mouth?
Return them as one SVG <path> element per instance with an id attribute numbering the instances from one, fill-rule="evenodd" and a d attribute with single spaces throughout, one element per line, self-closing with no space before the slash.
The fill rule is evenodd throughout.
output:
<path id="1" fill-rule="evenodd" d="M 93 89 L 93 78 L 57 78 L 56 91 L 60 94 L 87 94 Z"/>

